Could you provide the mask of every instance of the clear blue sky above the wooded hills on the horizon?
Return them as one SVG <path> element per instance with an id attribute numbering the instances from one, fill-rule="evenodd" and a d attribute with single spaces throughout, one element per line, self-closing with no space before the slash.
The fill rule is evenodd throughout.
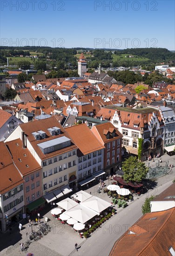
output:
<path id="1" fill-rule="evenodd" d="M 174 0 L 1 0 L 0 46 L 175 50 Z"/>

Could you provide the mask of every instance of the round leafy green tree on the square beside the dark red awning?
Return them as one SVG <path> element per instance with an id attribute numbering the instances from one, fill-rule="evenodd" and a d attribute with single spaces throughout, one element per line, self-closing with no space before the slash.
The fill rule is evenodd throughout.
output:
<path id="1" fill-rule="evenodd" d="M 141 182 L 148 173 L 145 163 L 139 162 L 136 156 L 130 156 L 123 162 L 122 170 L 124 172 L 123 178 L 126 182 Z"/>

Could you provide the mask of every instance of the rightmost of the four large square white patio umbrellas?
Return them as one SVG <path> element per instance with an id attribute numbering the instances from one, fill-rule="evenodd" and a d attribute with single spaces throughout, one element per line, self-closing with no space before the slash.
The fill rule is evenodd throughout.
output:
<path id="1" fill-rule="evenodd" d="M 91 198 L 87 199 L 84 202 L 80 203 L 81 205 L 84 205 L 90 209 L 93 209 L 94 211 L 101 213 L 103 210 L 107 209 L 109 206 L 111 206 L 111 203 L 106 202 L 105 200 L 97 197 L 92 196 Z"/>

